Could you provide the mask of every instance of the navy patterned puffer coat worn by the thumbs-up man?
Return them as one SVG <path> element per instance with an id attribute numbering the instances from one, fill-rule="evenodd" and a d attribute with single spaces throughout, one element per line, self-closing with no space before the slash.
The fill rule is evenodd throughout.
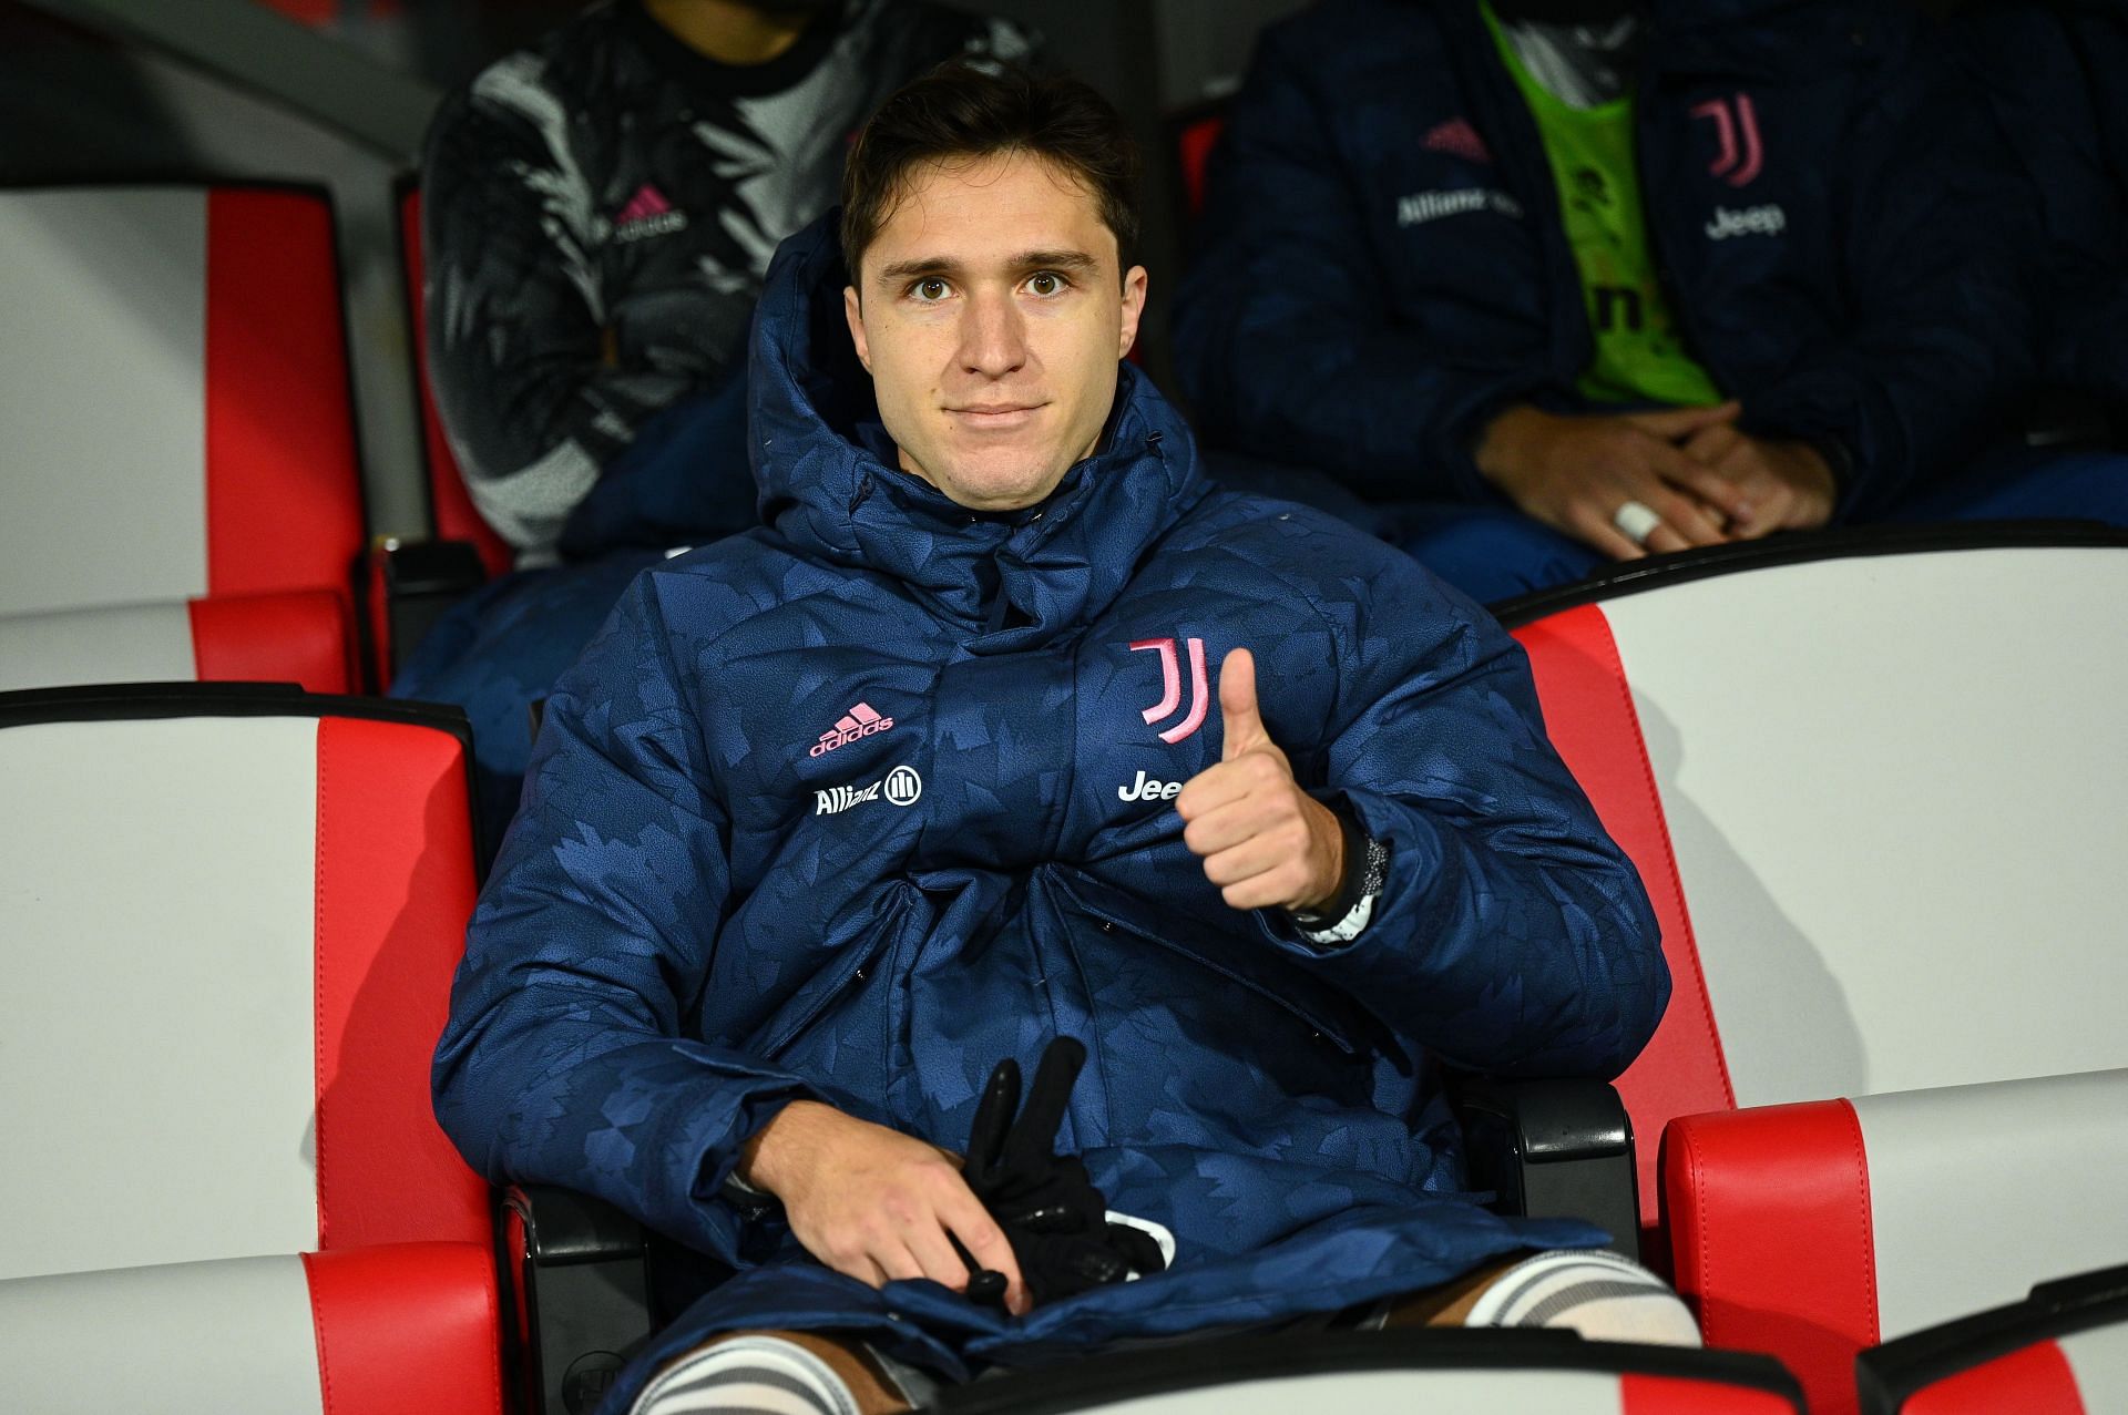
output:
<path id="1" fill-rule="evenodd" d="M 1130 368 L 1047 502 L 966 513 L 862 432 L 841 287 L 815 226 L 760 306 L 772 526 L 645 572 L 547 704 L 436 1055 L 466 1158 L 743 1268 L 638 1372 L 834 1326 L 958 1377 L 1596 1241 L 1460 1194 L 1436 1083 L 1611 1077 L 1668 994 L 1515 643 L 1381 543 L 1211 492 Z M 1392 849 L 1332 951 L 1228 909 L 1162 789 L 1219 760 L 1236 645 L 1300 779 Z M 879 1294 L 726 1189 L 798 1096 L 962 1147 L 992 1064 L 1058 1034 L 1092 1058 L 1064 1143 L 1175 1232 L 1162 1277 L 1026 1319 Z"/>

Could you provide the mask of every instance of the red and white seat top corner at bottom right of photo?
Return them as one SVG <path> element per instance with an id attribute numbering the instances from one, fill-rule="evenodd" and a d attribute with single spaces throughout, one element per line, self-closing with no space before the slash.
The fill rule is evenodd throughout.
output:
<path id="1" fill-rule="evenodd" d="M 1862 1415 L 2100 1415 L 2128 1409 L 2128 1268 L 1864 1351 Z"/>

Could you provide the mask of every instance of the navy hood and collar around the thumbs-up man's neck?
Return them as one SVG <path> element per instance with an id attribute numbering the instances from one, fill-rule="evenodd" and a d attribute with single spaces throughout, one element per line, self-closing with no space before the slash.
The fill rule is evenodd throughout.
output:
<path id="1" fill-rule="evenodd" d="M 972 513 L 892 464 L 843 319 L 838 211 L 785 240 L 753 315 L 762 519 L 804 555 L 909 585 L 970 649 L 1030 647 L 1100 613 L 1207 492 L 1181 415 L 1130 364 L 1094 455 L 1038 506 Z"/>

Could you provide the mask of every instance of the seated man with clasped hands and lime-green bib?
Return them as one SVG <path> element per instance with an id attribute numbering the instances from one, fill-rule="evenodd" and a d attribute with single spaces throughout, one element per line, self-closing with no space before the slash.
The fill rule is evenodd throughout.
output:
<path id="1" fill-rule="evenodd" d="M 2028 202 L 1890 0 L 1326 0 L 1264 32 L 1177 360 L 1481 600 L 1877 519 L 2128 521 L 2036 466 Z M 1994 438 L 1992 455 L 1977 455 Z"/>

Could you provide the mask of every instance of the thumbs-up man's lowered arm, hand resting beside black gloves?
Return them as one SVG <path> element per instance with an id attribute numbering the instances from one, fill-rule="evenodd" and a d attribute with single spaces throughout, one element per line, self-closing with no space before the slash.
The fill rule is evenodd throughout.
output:
<path id="1" fill-rule="evenodd" d="M 668 634 L 643 577 L 547 700 L 436 1047 L 445 1134 L 496 1183 L 598 1194 L 734 1264 L 781 1238 L 728 1202 L 734 1179 L 866 1283 L 966 1285 L 953 1234 L 1021 1311 L 1011 1243 L 951 1155 L 736 1038 L 687 1036 L 726 921 L 730 821 Z"/>

